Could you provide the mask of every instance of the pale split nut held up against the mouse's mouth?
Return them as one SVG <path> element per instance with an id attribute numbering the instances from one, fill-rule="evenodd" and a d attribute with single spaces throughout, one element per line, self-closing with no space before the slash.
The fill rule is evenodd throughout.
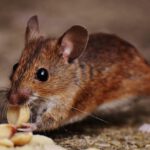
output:
<path id="1" fill-rule="evenodd" d="M 27 105 L 23 106 L 9 106 L 7 111 L 8 123 L 21 126 L 27 123 L 30 119 L 30 109 Z"/>

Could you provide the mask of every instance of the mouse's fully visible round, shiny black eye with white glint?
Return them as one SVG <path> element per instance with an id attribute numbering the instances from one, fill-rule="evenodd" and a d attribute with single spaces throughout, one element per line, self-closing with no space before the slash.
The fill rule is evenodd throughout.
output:
<path id="1" fill-rule="evenodd" d="M 47 81 L 48 80 L 48 71 L 45 68 L 40 68 L 37 72 L 36 72 L 36 78 L 39 81 Z"/>

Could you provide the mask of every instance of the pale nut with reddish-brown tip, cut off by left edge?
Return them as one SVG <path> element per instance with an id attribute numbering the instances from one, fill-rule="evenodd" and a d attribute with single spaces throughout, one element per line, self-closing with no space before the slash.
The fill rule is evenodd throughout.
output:
<path id="1" fill-rule="evenodd" d="M 0 125 L 0 139 L 10 138 L 16 132 L 16 128 L 10 124 Z"/>

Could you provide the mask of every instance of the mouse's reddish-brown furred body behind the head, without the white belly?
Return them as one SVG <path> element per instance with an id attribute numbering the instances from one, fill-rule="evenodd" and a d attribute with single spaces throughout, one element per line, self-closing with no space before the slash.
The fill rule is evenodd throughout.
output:
<path id="1" fill-rule="evenodd" d="M 148 63 L 134 46 L 115 35 L 90 35 L 79 64 L 84 88 L 76 97 L 74 107 L 81 110 L 86 110 L 85 103 L 90 106 L 88 111 L 92 105 L 94 108 L 114 99 L 142 95 L 150 89 L 145 86 L 150 80 Z"/>

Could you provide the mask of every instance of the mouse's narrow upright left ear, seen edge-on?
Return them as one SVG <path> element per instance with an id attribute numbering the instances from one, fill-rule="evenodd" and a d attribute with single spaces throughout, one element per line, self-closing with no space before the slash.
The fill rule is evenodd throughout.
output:
<path id="1" fill-rule="evenodd" d="M 25 33 L 25 44 L 39 38 L 39 22 L 37 16 L 32 16 L 28 22 Z"/>

